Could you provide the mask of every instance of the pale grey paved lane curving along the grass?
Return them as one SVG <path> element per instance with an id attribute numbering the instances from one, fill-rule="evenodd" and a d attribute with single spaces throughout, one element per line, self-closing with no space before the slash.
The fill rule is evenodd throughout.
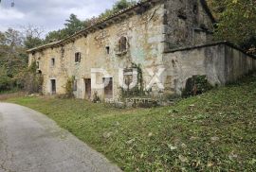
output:
<path id="1" fill-rule="evenodd" d="M 46 115 L 0 103 L 0 172 L 9 171 L 120 170 Z"/>

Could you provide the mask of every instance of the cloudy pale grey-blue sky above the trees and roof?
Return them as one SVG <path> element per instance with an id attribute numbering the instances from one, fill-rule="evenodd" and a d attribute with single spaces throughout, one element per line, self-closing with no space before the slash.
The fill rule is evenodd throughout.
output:
<path id="1" fill-rule="evenodd" d="M 1 0 L 0 31 L 9 27 L 43 26 L 46 31 L 64 26 L 64 20 L 71 13 L 81 20 L 99 15 L 110 9 L 117 0 Z"/>

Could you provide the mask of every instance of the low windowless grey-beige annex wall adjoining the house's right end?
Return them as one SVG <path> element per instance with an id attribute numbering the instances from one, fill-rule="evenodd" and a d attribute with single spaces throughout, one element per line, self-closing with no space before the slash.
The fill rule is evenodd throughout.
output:
<path id="1" fill-rule="evenodd" d="M 164 56 L 165 94 L 181 95 L 188 78 L 207 76 L 210 84 L 225 85 L 256 70 L 256 60 L 225 43 L 183 49 Z"/>

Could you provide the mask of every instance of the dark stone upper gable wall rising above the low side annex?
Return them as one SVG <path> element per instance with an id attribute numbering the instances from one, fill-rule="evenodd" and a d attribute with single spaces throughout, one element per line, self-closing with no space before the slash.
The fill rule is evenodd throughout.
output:
<path id="1" fill-rule="evenodd" d="M 166 50 L 212 40 L 213 24 L 200 0 L 165 1 Z"/>

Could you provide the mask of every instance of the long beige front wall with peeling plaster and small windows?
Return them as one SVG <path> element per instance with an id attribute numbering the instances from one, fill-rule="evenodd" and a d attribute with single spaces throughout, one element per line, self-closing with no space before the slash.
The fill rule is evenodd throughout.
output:
<path id="1" fill-rule="evenodd" d="M 87 36 L 76 39 L 73 43 L 63 47 L 47 48 L 42 52 L 30 55 L 30 59 L 40 61 L 40 70 L 44 75 L 44 94 L 51 94 L 50 79 L 57 81 L 57 94 L 64 94 L 64 86 L 68 77 L 75 77 L 78 81 L 76 97 L 84 98 L 84 78 L 91 78 L 91 68 L 105 69 L 114 81 L 114 97 L 118 98 L 119 68 L 128 68 L 132 63 L 140 64 L 143 70 L 144 82 L 150 77 L 145 71 L 148 67 L 157 68 L 162 65 L 164 51 L 163 17 L 164 5 L 159 3 L 142 14 L 133 15 L 119 21 L 115 25 L 89 33 Z M 121 37 L 128 41 L 127 52 L 119 53 L 118 43 Z M 106 47 L 109 47 L 109 54 Z M 82 55 L 81 62 L 75 62 L 75 53 Z M 55 66 L 50 66 L 50 60 L 55 59 Z M 98 76 L 98 82 L 102 76 Z M 98 92 L 104 98 L 103 90 Z"/>

